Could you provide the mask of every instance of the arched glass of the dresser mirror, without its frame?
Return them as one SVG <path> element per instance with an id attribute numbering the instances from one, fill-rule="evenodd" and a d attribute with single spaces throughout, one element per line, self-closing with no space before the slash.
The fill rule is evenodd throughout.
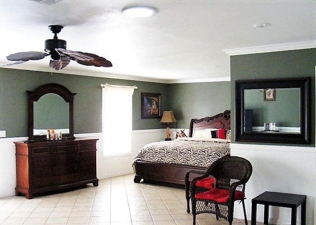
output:
<path id="1" fill-rule="evenodd" d="M 34 135 L 46 135 L 47 129 L 69 134 L 69 103 L 54 93 L 34 102 Z"/>

